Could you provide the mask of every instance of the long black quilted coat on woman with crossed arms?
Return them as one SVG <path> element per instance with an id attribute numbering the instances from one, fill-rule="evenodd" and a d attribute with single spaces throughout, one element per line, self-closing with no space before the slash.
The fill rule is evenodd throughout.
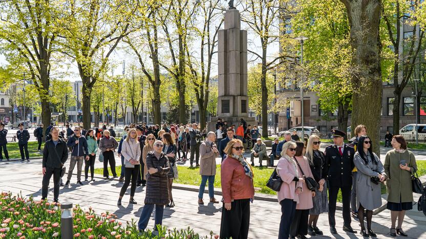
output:
<path id="1" fill-rule="evenodd" d="M 161 153 L 160 159 L 157 159 L 154 152 L 148 152 L 146 166 L 148 169 L 158 169 L 158 172 L 155 174 L 146 172 L 145 204 L 168 204 L 167 173 L 170 166 L 166 155 Z"/>

